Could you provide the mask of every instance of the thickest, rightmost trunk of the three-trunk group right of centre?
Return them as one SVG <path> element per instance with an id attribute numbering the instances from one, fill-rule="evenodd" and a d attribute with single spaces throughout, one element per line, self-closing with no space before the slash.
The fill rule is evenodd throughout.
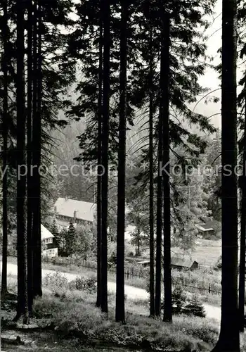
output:
<path id="1" fill-rule="evenodd" d="M 162 8 L 162 52 L 160 68 L 160 115 L 163 121 L 163 232 L 164 232 L 164 315 L 163 320 L 171 322 L 171 213 L 169 176 L 169 46 L 170 20 L 165 6 Z M 167 166 L 166 166 L 167 165 Z"/>

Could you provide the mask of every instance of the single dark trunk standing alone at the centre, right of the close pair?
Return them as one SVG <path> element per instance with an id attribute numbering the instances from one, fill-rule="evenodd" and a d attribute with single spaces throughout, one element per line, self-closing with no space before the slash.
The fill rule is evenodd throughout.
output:
<path id="1" fill-rule="evenodd" d="M 127 22 L 128 0 L 121 1 L 120 73 L 119 73 L 119 146 L 117 192 L 117 258 L 115 320 L 125 322 L 124 309 L 124 230 L 126 202 L 126 131 L 127 131 Z"/>

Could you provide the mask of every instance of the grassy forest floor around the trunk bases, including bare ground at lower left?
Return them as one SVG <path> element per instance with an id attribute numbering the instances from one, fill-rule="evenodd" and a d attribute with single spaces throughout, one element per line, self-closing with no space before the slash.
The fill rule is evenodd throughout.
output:
<path id="1" fill-rule="evenodd" d="M 8 277 L 16 290 L 16 277 Z M 59 282 L 57 282 L 59 285 Z M 13 301 L 3 301 L 2 348 L 4 351 L 209 351 L 219 329 L 212 320 L 174 316 L 172 325 L 148 318 L 148 300 L 126 301 L 126 325 L 115 323 L 115 294 L 108 296 L 108 317 L 95 306 L 96 294 L 64 290 L 53 294 L 44 287 L 42 298 L 34 301 L 30 328 L 13 325 Z M 55 289 L 56 290 L 56 289 Z M 19 341 L 16 341 L 18 337 Z M 93 350 L 91 349 L 93 348 Z M 185 349 L 188 348 L 188 349 Z"/>

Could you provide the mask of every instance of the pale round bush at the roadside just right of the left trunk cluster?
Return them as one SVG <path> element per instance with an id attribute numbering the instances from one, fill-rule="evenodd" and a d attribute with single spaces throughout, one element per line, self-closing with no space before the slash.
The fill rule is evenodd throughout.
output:
<path id="1" fill-rule="evenodd" d="M 69 288 L 67 277 L 60 274 L 60 272 L 47 274 L 44 278 L 44 285 L 52 291 L 53 295 L 58 297 L 64 296 L 65 292 Z"/>

